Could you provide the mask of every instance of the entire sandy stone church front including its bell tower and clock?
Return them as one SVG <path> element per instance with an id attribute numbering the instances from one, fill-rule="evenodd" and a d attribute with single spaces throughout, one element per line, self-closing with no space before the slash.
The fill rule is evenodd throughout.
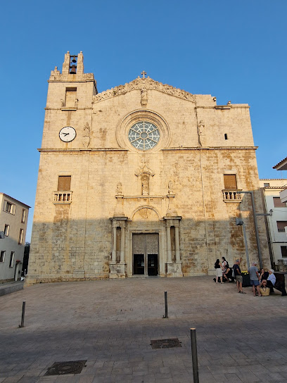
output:
<path id="1" fill-rule="evenodd" d="M 49 79 L 27 284 L 269 265 L 247 104 L 146 77 L 98 93 L 83 55 Z M 260 242 L 260 254 L 258 243 Z M 247 267 L 247 266 L 246 266 Z"/>

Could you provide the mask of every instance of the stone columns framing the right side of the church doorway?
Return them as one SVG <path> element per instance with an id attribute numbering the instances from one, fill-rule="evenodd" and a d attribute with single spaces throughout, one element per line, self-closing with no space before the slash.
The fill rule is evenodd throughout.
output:
<path id="1" fill-rule="evenodd" d="M 166 216 L 163 218 L 166 224 L 167 230 L 167 277 L 183 277 L 180 259 L 180 246 L 179 246 L 179 216 Z M 174 227 L 175 234 L 175 262 L 172 261 L 172 241 L 170 236 L 170 229 Z"/>

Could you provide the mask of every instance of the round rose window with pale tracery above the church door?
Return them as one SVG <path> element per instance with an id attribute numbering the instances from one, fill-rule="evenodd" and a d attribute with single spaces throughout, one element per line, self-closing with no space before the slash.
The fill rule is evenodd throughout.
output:
<path id="1" fill-rule="evenodd" d="M 139 121 L 139 123 L 132 125 L 129 130 L 129 142 L 139 150 L 152 149 L 158 144 L 159 139 L 158 127 L 147 121 Z"/>

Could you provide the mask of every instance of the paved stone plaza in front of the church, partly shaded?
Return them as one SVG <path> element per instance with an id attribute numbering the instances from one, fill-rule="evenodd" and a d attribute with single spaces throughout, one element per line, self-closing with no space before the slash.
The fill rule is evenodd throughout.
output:
<path id="1" fill-rule="evenodd" d="M 287 382 L 287 297 L 244 291 L 212 277 L 147 277 L 37 284 L 0 296 L 0 383 L 193 382 L 190 327 L 200 383 Z M 151 340 L 174 338 L 181 347 L 151 348 Z M 87 360 L 79 374 L 45 375 L 72 360 Z"/>

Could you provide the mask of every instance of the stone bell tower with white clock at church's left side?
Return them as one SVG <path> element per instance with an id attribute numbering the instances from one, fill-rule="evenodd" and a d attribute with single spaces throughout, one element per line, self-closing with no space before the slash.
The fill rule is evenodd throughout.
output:
<path id="1" fill-rule="evenodd" d="M 69 270 L 74 279 L 84 275 L 84 239 L 77 246 L 73 241 L 81 237 L 84 226 L 77 199 L 87 199 L 87 188 L 79 195 L 79 185 L 86 185 L 89 178 L 92 99 L 98 91 L 94 74 L 84 73 L 83 61 L 82 51 L 68 51 L 62 73 L 55 67 L 48 80 L 27 284 L 37 280 L 39 274 L 45 275 L 47 282 L 56 280 L 63 270 Z M 80 161 L 74 170 L 76 155 Z M 43 236 L 44 231 L 50 234 Z M 71 248 L 72 255 L 67 250 Z M 61 266 L 56 270 L 53 265 L 58 263 L 58 254 Z"/>

